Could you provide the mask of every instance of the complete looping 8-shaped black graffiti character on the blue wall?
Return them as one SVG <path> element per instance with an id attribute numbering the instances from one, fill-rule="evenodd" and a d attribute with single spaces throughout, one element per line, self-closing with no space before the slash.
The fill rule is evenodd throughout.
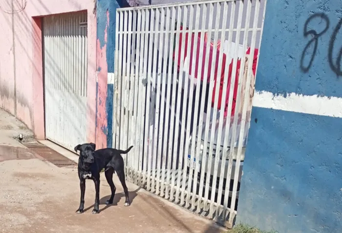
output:
<path id="1" fill-rule="evenodd" d="M 321 31 L 320 33 L 317 33 L 315 30 L 309 30 L 308 31 L 308 24 L 311 20 L 316 19 L 316 18 L 321 18 L 322 21 L 325 21 L 325 28 L 323 29 L 323 31 Z M 312 16 L 310 16 L 308 19 L 306 19 L 305 24 L 304 24 L 304 37 L 306 38 L 309 35 L 313 35 L 313 38 L 309 40 L 309 42 L 306 44 L 302 54 L 301 54 L 301 58 L 300 58 L 300 69 L 306 73 L 310 70 L 310 67 L 312 65 L 312 62 L 314 61 L 316 52 L 317 52 L 317 47 L 318 47 L 318 39 L 320 38 L 321 35 L 323 35 L 329 28 L 329 18 L 324 14 L 324 13 L 317 13 L 314 14 Z M 315 42 L 314 45 L 314 51 L 312 52 L 310 61 L 309 61 L 309 65 L 308 66 L 304 66 L 303 65 L 303 61 L 304 61 L 304 57 L 305 57 L 305 53 L 306 50 L 310 47 L 310 45 L 312 44 L 312 42 Z"/>

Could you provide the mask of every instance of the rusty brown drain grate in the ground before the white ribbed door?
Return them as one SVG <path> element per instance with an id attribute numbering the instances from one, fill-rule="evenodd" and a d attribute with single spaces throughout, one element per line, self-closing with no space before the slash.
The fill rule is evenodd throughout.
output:
<path id="1" fill-rule="evenodd" d="M 71 159 L 64 157 L 63 155 L 41 143 L 22 143 L 22 145 L 42 156 L 44 159 L 46 159 L 50 163 L 53 163 L 57 167 L 61 168 L 77 165 L 77 163 L 75 163 Z"/>

